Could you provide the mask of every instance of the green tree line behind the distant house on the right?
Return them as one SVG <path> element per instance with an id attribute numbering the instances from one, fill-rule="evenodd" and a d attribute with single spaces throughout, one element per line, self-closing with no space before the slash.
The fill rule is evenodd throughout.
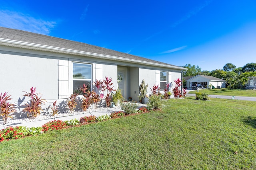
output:
<path id="1" fill-rule="evenodd" d="M 182 67 L 188 68 L 186 72 L 183 72 L 183 76 L 196 76 L 198 74 L 214 76 L 226 80 L 226 86 L 230 89 L 246 88 L 248 77 L 256 76 L 256 63 L 247 63 L 238 68 L 232 63 L 227 63 L 223 66 L 223 69 L 212 71 L 201 70 L 199 66 L 191 64 Z"/>

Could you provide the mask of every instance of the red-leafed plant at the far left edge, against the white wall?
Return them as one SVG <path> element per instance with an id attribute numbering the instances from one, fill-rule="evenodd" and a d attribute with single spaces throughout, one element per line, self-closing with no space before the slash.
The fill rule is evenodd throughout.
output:
<path id="1" fill-rule="evenodd" d="M 4 124 L 7 123 L 7 118 L 10 117 L 12 118 L 12 116 L 10 116 L 10 114 L 12 112 L 15 112 L 15 105 L 14 104 L 9 104 L 7 101 L 8 100 L 12 100 L 10 98 L 11 95 L 7 95 L 7 93 L 5 92 L 4 94 L 0 94 L 0 113 L 1 116 L 3 117 L 4 120 Z"/>

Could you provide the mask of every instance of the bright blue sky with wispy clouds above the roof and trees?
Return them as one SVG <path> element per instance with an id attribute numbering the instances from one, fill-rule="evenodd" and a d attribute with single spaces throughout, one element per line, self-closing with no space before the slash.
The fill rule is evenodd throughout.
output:
<path id="1" fill-rule="evenodd" d="M 202 70 L 256 63 L 255 0 L 0 0 L 0 26 Z"/>

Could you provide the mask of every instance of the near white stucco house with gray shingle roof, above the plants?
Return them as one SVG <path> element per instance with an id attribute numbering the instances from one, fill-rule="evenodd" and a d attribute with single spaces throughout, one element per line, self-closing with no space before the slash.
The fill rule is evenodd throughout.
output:
<path id="1" fill-rule="evenodd" d="M 105 76 L 112 78 L 124 98 L 139 100 L 139 85 L 144 79 L 148 91 L 154 84 L 164 84 L 182 77 L 182 68 L 121 53 L 118 51 L 40 35 L 17 29 L 0 27 L 0 92 L 8 92 L 18 106 L 28 101 L 23 95 L 36 87 L 49 104 L 62 103 L 82 84 L 89 84 Z M 74 76 L 82 74 L 82 76 Z"/>

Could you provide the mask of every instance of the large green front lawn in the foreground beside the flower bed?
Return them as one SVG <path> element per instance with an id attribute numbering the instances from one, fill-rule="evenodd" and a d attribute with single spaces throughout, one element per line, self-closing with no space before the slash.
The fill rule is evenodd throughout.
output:
<path id="1" fill-rule="evenodd" d="M 2 169 L 256 169 L 256 102 L 192 98 L 162 111 L 0 143 Z"/>

